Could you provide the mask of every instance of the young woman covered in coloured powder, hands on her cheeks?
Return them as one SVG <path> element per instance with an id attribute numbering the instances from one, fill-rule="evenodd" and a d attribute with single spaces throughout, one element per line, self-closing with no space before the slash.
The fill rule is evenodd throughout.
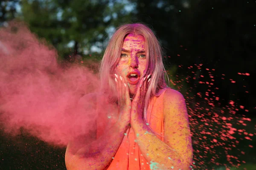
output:
<path id="1" fill-rule="evenodd" d="M 99 70 L 115 119 L 108 129 L 97 121 L 94 136 L 68 144 L 67 170 L 188 170 L 192 142 L 186 102 L 167 87 L 165 72 L 151 29 L 139 23 L 120 26 Z"/>

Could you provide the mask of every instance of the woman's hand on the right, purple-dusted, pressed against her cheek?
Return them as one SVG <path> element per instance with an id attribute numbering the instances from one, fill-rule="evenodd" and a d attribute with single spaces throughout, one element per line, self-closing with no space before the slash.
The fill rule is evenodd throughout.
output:
<path id="1" fill-rule="evenodd" d="M 131 104 L 131 124 L 134 121 L 143 121 L 143 111 L 145 107 L 145 96 L 148 91 L 148 84 L 151 75 L 146 75 L 140 80 L 139 87 Z"/>

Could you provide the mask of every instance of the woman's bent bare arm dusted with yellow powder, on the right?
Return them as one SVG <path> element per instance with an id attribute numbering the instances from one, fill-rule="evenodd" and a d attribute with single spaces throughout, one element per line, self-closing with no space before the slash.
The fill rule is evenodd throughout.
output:
<path id="1" fill-rule="evenodd" d="M 192 163 L 192 143 L 185 99 L 172 89 L 164 95 L 164 142 L 141 119 L 131 122 L 131 127 L 149 164 L 157 164 L 164 170 L 188 170 Z"/>

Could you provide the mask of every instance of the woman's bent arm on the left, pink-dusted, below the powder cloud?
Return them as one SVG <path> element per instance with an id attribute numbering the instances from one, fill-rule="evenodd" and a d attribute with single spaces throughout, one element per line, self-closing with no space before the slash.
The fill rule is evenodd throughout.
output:
<path id="1" fill-rule="evenodd" d="M 127 129 L 127 126 L 116 123 L 91 143 L 84 142 L 81 146 L 81 141 L 86 138 L 70 142 L 65 155 L 67 170 L 103 170 L 115 156 Z M 76 144 L 81 146 L 78 150 Z"/>

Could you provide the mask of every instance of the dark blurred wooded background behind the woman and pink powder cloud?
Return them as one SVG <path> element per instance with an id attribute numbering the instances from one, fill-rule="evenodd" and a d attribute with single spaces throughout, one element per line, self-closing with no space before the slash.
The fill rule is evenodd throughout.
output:
<path id="1" fill-rule="evenodd" d="M 193 168 L 256 169 L 256 1 L 0 1 L 0 26 L 8 26 L 13 19 L 25 21 L 38 37 L 54 45 L 60 60 L 82 60 L 85 67 L 86 61 L 98 63 L 102 58 L 113 28 L 123 23 L 147 24 L 163 47 L 170 86 L 187 99 Z M 233 119 L 224 121 L 222 116 Z M 227 123 L 244 131 L 236 131 L 236 139 L 221 138 L 228 133 Z M 209 128 L 212 133 L 205 134 Z M 0 139 L 0 169 L 65 169 L 65 148 L 22 129 L 15 137 L 1 130 Z"/>

